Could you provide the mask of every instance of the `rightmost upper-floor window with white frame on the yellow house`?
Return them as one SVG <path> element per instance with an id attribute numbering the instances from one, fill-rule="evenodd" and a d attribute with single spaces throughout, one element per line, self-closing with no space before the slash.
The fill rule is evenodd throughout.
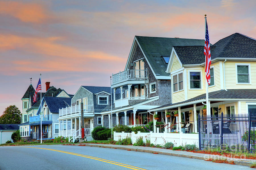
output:
<path id="1" fill-rule="evenodd" d="M 250 83 L 250 64 L 236 64 L 237 82 Z"/>

